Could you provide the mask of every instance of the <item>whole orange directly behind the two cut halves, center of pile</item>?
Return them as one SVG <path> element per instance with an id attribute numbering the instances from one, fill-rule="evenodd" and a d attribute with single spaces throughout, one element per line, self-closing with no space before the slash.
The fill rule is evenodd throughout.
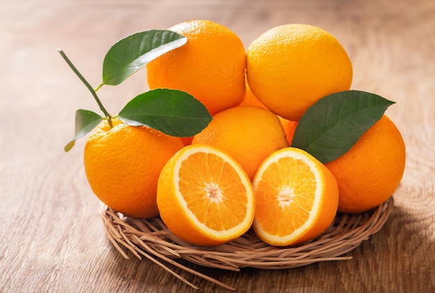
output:
<path id="1" fill-rule="evenodd" d="M 229 153 L 251 180 L 270 153 L 288 147 L 277 115 L 256 106 L 236 106 L 218 112 L 210 124 L 193 137 L 192 144 L 198 143 Z"/>

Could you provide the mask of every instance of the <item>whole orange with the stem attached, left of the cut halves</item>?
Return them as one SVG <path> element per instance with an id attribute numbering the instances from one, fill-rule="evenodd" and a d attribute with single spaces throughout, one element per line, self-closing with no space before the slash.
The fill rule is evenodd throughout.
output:
<path id="1" fill-rule="evenodd" d="M 146 126 L 104 122 L 85 144 L 85 174 L 108 207 L 136 218 L 156 217 L 157 181 L 165 163 L 183 147 L 177 137 Z"/>

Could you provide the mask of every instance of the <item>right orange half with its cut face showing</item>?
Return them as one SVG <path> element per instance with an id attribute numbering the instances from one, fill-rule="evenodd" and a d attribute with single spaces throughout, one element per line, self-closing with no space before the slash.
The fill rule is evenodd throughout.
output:
<path id="1" fill-rule="evenodd" d="M 270 245 L 313 240 L 336 216 L 336 179 L 301 149 L 288 147 L 272 153 L 259 167 L 253 187 L 254 231 Z"/>

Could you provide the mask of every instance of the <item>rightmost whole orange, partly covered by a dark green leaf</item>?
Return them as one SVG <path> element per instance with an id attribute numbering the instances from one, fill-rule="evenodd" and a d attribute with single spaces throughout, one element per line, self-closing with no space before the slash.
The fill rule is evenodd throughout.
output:
<path id="1" fill-rule="evenodd" d="M 365 212 L 386 201 L 402 180 L 405 159 L 400 131 L 382 116 L 347 153 L 325 164 L 338 183 L 338 211 Z"/>

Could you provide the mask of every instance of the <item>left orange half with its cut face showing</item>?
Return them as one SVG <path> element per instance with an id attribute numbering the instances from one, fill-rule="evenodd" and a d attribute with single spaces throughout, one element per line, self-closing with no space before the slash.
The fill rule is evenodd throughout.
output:
<path id="1" fill-rule="evenodd" d="M 174 235 L 202 246 L 243 235 L 255 212 L 246 172 L 227 153 L 204 144 L 184 147 L 163 167 L 157 206 Z"/>

